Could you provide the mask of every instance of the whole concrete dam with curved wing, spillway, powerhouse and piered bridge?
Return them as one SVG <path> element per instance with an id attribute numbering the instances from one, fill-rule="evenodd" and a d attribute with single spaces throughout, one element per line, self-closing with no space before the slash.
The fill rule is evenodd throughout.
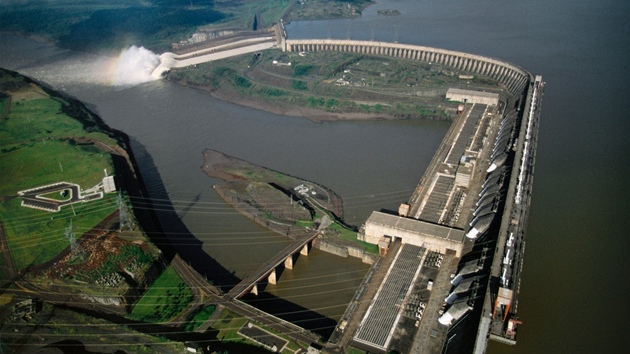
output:
<path id="1" fill-rule="evenodd" d="M 288 39 L 282 22 L 275 34 L 165 53 L 154 75 L 270 48 L 421 61 L 501 85 L 497 92 L 448 90 L 445 98 L 461 102 L 461 112 L 409 200 L 397 213 L 373 212 L 359 230 L 358 239 L 377 244 L 381 256 L 328 342 L 320 344 L 331 353 L 353 346 L 374 353 L 475 354 L 486 351 L 488 339 L 515 345 L 542 77 L 498 59 L 433 47 Z M 286 262 L 311 241 L 281 252 L 221 297 L 235 304 L 244 293 L 257 293 L 264 278 L 281 281 L 275 267 L 290 269 Z"/>

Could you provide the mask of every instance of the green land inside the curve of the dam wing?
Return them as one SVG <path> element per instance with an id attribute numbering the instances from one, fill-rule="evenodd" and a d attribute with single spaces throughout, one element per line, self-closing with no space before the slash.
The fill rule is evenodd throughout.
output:
<path id="1" fill-rule="evenodd" d="M 288 65 L 288 64 L 291 65 Z M 457 103 L 450 87 L 497 91 L 483 77 L 419 61 L 343 52 L 265 51 L 175 69 L 168 79 L 206 88 L 221 98 L 273 111 L 308 108 L 332 114 L 360 113 L 397 119 L 451 119 Z"/>

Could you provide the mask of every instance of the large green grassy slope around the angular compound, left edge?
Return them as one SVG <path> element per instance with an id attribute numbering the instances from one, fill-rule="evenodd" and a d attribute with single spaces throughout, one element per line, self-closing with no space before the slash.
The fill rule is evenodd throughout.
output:
<path id="1" fill-rule="evenodd" d="M 111 145 L 115 141 L 97 131 L 86 133 L 86 125 L 96 130 L 93 122 L 82 123 L 65 113 L 78 112 L 80 106 L 50 96 L 20 77 L 0 72 L 0 91 L 12 96 L 9 114 L 0 121 L 0 220 L 15 266 L 24 269 L 51 259 L 69 245 L 65 229 L 70 220 L 80 237 L 116 210 L 116 198 L 108 195 L 50 213 L 20 206 L 17 192 L 61 181 L 93 187 L 104 169 L 114 172 L 112 158 L 94 145 L 77 144 L 74 137 Z"/>

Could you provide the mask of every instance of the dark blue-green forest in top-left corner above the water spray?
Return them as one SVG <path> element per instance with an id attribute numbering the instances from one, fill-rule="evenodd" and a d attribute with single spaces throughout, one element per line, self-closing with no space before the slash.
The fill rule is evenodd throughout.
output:
<path id="1" fill-rule="evenodd" d="M 166 50 L 198 26 L 225 18 L 213 0 L 71 0 L 0 5 L 4 31 L 39 35 L 65 48 L 101 51 L 138 44 Z"/>

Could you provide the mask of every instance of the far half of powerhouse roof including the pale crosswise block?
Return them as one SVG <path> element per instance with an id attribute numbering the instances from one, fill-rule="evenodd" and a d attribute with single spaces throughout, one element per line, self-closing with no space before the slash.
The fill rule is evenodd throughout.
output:
<path id="1" fill-rule="evenodd" d="M 405 204 L 411 206 L 409 215 L 373 212 L 358 238 L 374 244 L 384 236 L 398 238 L 403 244 L 443 254 L 453 250 L 456 257 L 461 257 L 465 221 L 459 216 L 470 199 L 466 196 L 470 194 L 470 181 L 475 176 L 474 161 L 481 152 L 476 141 L 483 140 L 487 133 L 489 125 L 483 124 L 487 111 L 486 105 L 474 105 L 453 124 L 442 142 L 443 149 L 432 162 L 431 171 L 420 182 L 410 203 Z M 480 186 L 472 188 L 477 190 Z"/>

